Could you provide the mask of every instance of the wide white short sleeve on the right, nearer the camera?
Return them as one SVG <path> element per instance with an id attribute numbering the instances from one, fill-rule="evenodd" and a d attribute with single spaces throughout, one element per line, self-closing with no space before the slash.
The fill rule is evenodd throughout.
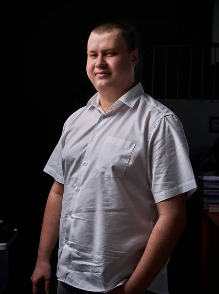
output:
<path id="1" fill-rule="evenodd" d="M 155 202 L 197 189 L 182 123 L 167 115 L 153 126 L 148 141 L 148 181 Z"/>

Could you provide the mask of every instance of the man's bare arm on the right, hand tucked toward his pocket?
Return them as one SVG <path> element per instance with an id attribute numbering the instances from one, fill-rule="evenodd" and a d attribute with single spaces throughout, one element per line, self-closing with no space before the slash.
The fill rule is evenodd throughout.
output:
<path id="1" fill-rule="evenodd" d="M 145 252 L 124 286 L 125 294 L 143 294 L 168 261 L 186 225 L 184 194 L 157 203 L 159 218 Z"/>

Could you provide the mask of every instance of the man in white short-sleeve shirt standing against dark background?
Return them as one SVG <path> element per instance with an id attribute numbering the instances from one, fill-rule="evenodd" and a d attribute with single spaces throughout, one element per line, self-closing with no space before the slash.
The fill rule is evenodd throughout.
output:
<path id="1" fill-rule="evenodd" d="M 49 293 L 58 236 L 58 294 L 168 294 L 167 264 L 197 186 L 182 124 L 134 81 L 137 62 L 128 26 L 91 32 L 87 74 L 97 94 L 67 119 L 44 169 L 55 181 L 34 294 L 41 279 Z"/>

